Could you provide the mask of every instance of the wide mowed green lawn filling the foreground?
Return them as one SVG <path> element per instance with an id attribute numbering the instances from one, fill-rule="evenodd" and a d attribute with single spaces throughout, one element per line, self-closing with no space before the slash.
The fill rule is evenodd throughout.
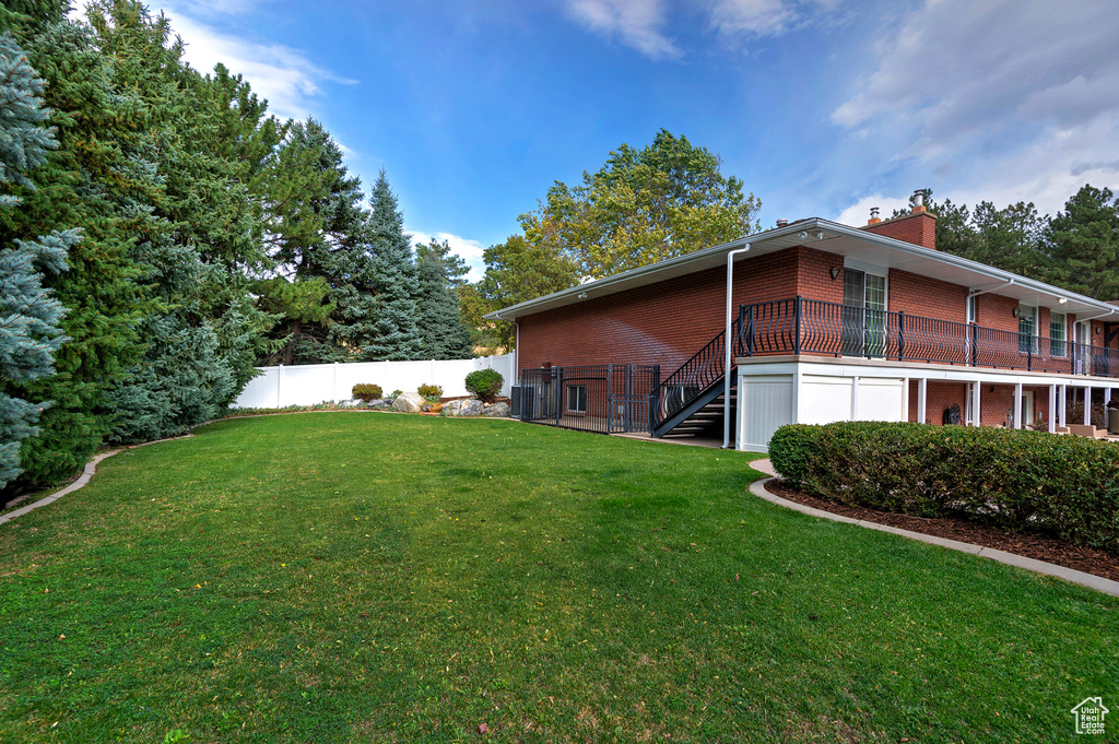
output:
<path id="1" fill-rule="evenodd" d="M 0 526 L 0 741 L 1050 742 L 1115 709 L 1119 601 L 771 506 L 750 459 L 377 413 L 117 454 Z"/>

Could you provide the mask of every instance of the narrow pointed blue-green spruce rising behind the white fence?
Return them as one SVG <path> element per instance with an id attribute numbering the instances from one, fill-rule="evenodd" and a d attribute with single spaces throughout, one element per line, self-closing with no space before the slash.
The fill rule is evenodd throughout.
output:
<path id="1" fill-rule="evenodd" d="M 419 282 L 404 218 L 382 169 L 369 198 L 368 235 L 377 293 L 376 338 L 363 348 L 373 360 L 419 359 L 423 339 L 416 324 Z"/>

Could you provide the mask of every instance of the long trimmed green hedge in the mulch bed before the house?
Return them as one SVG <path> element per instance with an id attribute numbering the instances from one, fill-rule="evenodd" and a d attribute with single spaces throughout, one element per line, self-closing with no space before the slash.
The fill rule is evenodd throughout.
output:
<path id="1" fill-rule="evenodd" d="M 808 493 L 961 517 L 1119 554 L 1119 443 L 1028 430 L 838 422 L 782 426 L 774 469 Z"/>

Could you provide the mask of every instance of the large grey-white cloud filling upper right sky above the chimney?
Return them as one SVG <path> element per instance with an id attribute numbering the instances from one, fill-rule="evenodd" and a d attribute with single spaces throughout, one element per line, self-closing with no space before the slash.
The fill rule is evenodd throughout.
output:
<path id="1" fill-rule="evenodd" d="M 875 70 L 831 114 L 863 163 L 878 164 L 871 176 L 1049 213 L 1085 181 L 1119 182 L 1109 3 L 928 0 L 878 34 Z"/>

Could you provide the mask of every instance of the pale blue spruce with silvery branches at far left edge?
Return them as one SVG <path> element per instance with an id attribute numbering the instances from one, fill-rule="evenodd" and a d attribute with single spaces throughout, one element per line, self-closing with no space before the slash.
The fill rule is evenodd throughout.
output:
<path id="1" fill-rule="evenodd" d="M 45 82 L 28 64 L 10 34 L 0 37 L 0 185 L 35 190 L 27 171 L 57 147 L 45 126 L 49 112 L 40 94 Z M 18 196 L 0 196 L 0 209 L 16 208 Z M 66 269 L 76 230 L 38 241 L 15 241 L 0 249 L 0 488 L 21 472 L 20 444 L 38 433 L 35 424 L 48 402 L 30 403 L 11 393 L 54 373 L 54 355 L 66 340 L 58 321 L 63 307 L 43 288 L 43 273 Z"/>

